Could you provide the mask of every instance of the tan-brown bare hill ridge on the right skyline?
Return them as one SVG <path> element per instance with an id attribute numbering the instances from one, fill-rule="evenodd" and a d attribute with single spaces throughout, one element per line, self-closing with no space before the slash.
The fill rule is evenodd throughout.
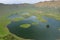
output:
<path id="1" fill-rule="evenodd" d="M 36 7 L 48 6 L 48 7 L 60 7 L 60 1 L 45 1 L 34 4 Z"/>

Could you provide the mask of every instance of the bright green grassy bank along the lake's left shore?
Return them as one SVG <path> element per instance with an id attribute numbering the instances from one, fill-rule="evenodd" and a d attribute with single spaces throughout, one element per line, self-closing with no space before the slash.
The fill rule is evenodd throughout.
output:
<path id="1" fill-rule="evenodd" d="M 5 36 L 9 34 L 9 31 L 6 27 L 9 23 L 10 21 L 6 19 L 5 17 L 0 18 L 0 36 Z"/>

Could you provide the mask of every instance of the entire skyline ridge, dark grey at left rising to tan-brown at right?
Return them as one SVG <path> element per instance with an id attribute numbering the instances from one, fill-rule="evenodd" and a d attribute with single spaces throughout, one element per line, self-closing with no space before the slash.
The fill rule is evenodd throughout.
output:
<path id="1" fill-rule="evenodd" d="M 60 1 L 44 1 L 44 2 L 38 2 L 35 4 L 29 4 L 29 3 L 21 3 L 21 4 L 3 4 L 0 3 L 0 6 L 6 5 L 6 6 L 28 6 L 33 5 L 35 7 L 42 7 L 42 6 L 48 6 L 48 7 L 60 7 Z"/>

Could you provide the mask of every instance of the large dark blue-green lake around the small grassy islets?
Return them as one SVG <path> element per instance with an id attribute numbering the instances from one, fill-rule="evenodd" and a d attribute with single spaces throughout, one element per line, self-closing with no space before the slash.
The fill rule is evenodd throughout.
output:
<path id="1" fill-rule="evenodd" d="M 43 23 L 36 20 L 35 16 L 31 16 L 22 21 L 11 22 L 7 28 L 9 31 L 24 39 L 34 40 L 56 40 L 60 39 L 60 21 L 53 18 L 43 17 L 47 22 Z M 32 23 L 36 22 L 37 25 Z M 22 24 L 31 24 L 29 28 L 21 28 Z M 49 25 L 49 28 L 46 27 Z"/>

